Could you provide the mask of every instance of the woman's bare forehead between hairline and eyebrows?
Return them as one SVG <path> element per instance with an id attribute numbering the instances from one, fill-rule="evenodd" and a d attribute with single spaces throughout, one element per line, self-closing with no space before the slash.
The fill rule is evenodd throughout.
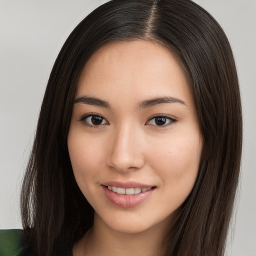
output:
<path id="1" fill-rule="evenodd" d="M 176 56 L 162 45 L 145 40 L 109 41 L 99 47 L 79 77 L 76 96 L 81 94 L 134 99 L 172 94 L 192 100 Z"/>

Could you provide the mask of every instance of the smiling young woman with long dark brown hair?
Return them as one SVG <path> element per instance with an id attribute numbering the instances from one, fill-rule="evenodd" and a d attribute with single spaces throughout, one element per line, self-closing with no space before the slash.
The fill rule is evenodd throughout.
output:
<path id="1" fill-rule="evenodd" d="M 21 255 L 223 255 L 239 176 L 235 64 L 190 0 L 111 0 L 52 68 Z"/>

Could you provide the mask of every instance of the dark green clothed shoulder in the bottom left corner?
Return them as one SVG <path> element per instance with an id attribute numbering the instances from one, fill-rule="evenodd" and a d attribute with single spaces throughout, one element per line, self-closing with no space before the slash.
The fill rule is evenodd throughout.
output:
<path id="1" fill-rule="evenodd" d="M 0 230 L 0 256 L 24 255 L 23 230 Z"/>

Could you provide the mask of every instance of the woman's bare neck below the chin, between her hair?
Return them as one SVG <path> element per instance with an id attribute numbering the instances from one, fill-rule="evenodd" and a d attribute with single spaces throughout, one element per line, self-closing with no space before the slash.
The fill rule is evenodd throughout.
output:
<path id="1" fill-rule="evenodd" d="M 164 255 L 166 244 L 166 221 L 139 233 L 124 233 L 111 229 L 97 214 L 93 227 L 75 244 L 74 256 L 158 256 Z"/>

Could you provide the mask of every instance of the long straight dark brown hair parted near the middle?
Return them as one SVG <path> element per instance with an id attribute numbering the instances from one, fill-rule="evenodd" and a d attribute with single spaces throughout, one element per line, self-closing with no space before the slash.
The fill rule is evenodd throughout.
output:
<path id="1" fill-rule="evenodd" d="M 203 137 L 198 176 L 172 227 L 166 255 L 224 253 L 242 142 L 229 42 L 216 20 L 191 0 L 111 0 L 74 28 L 50 73 L 21 192 L 24 237 L 32 255 L 71 255 L 74 242 L 92 226 L 93 209 L 75 182 L 67 149 L 76 83 L 104 42 L 136 39 L 158 42 L 178 56 Z"/>

